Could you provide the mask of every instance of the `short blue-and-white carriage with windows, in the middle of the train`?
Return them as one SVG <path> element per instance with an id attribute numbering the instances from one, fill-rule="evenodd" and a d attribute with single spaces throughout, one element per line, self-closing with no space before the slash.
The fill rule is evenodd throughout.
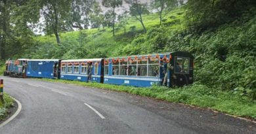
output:
<path id="1" fill-rule="evenodd" d="M 102 83 L 104 59 L 69 59 L 61 61 L 60 79 Z"/>

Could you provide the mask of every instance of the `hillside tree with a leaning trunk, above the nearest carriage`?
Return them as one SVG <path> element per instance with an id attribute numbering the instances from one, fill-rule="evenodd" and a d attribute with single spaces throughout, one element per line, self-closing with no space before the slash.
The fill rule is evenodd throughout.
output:
<path id="1" fill-rule="evenodd" d="M 130 5 L 130 14 L 134 16 L 142 25 L 144 33 L 146 33 L 146 27 L 142 20 L 142 14 L 148 14 L 147 3 L 140 3 L 138 0 L 125 0 Z"/>

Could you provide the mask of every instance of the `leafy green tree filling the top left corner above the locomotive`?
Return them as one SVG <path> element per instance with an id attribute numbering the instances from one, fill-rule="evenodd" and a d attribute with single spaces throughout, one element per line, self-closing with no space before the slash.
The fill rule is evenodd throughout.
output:
<path id="1" fill-rule="evenodd" d="M 0 0 L 1 59 L 19 54 L 33 42 L 32 28 L 38 20 L 37 0 Z"/>

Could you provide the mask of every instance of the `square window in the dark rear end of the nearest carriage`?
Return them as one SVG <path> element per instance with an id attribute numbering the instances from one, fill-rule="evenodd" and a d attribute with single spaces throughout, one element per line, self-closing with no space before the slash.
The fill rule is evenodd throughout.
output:
<path id="1" fill-rule="evenodd" d="M 189 58 L 175 58 L 175 73 L 189 73 Z"/>

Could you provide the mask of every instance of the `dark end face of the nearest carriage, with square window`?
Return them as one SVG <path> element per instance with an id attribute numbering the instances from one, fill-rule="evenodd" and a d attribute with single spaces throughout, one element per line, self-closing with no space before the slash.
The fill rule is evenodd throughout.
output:
<path id="1" fill-rule="evenodd" d="M 175 86 L 184 86 L 192 84 L 192 65 L 190 58 L 175 56 L 174 73 L 171 76 L 172 83 Z"/>

